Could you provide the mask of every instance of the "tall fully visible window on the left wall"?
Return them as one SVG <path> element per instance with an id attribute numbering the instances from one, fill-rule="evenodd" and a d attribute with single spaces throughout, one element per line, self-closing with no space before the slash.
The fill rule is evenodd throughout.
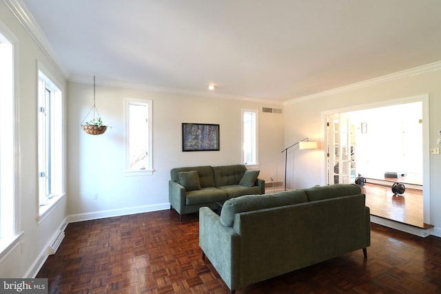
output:
<path id="1" fill-rule="evenodd" d="M 63 195 L 63 107 L 62 93 L 50 79 L 39 72 L 39 212 Z"/>

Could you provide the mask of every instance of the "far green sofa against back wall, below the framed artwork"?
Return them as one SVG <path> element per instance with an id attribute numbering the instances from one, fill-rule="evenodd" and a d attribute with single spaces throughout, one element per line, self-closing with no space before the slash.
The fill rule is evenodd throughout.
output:
<path id="1" fill-rule="evenodd" d="M 258 174 L 245 165 L 174 168 L 168 186 L 170 209 L 176 209 L 182 220 L 184 214 L 198 212 L 201 207 L 216 209 L 216 202 L 264 194 L 265 180 L 259 179 Z"/>

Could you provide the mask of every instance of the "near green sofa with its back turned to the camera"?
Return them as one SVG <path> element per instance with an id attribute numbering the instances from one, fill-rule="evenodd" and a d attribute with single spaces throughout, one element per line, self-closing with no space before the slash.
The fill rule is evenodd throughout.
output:
<path id="1" fill-rule="evenodd" d="M 358 185 L 329 185 L 202 207 L 199 244 L 231 292 L 371 244 L 369 207 Z"/>

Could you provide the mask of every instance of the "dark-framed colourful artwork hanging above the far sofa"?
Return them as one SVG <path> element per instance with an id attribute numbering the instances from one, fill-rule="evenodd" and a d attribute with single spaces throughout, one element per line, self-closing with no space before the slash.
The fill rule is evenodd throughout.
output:
<path id="1" fill-rule="evenodd" d="M 219 151 L 219 125 L 182 124 L 182 151 Z"/>

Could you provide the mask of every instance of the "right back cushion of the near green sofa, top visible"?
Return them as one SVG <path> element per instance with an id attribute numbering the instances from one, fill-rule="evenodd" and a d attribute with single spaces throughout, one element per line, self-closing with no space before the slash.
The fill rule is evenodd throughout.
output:
<path id="1" fill-rule="evenodd" d="M 303 189 L 303 191 L 305 191 L 308 201 L 318 201 L 360 194 L 361 188 L 355 184 L 335 184 Z"/>

